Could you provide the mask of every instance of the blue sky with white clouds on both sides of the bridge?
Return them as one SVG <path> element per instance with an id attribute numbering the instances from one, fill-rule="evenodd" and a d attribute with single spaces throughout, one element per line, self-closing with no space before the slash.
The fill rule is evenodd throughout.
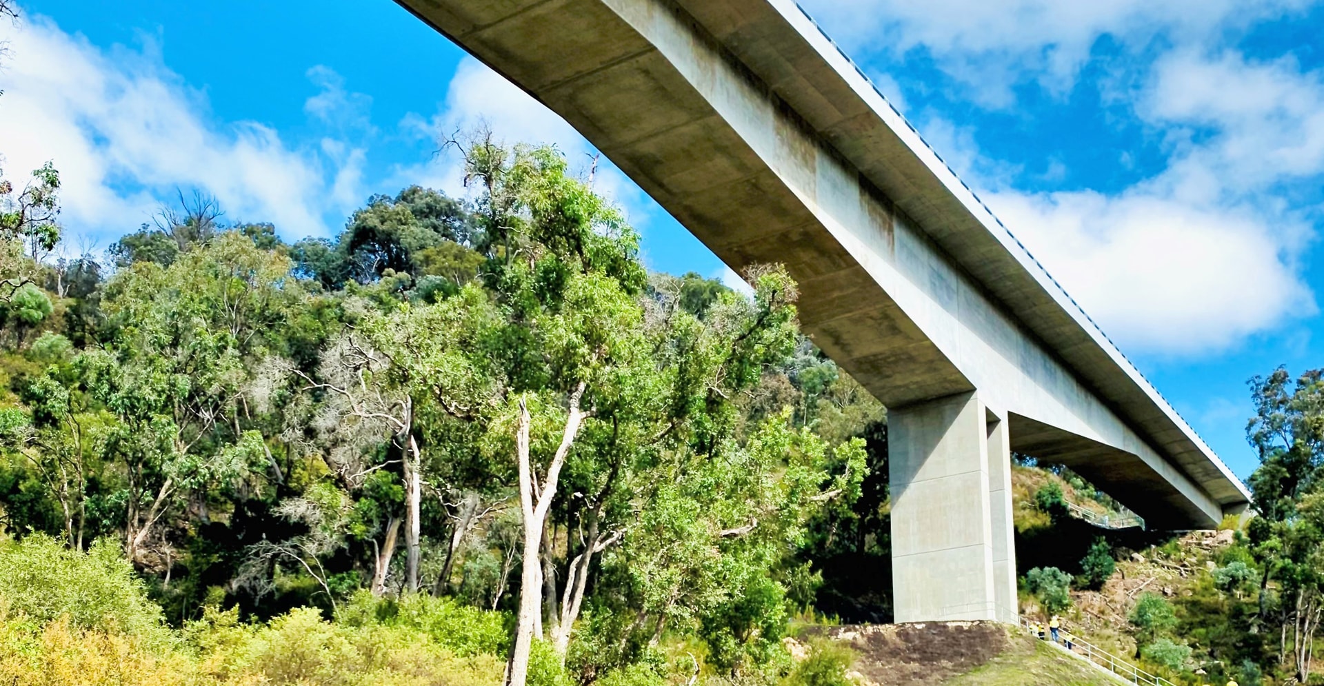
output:
<path id="1" fill-rule="evenodd" d="M 1233 469 L 1246 379 L 1324 366 L 1324 3 L 808 0 L 940 155 Z M 587 167 L 564 122 L 388 0 L 26 3 L 0 23 L 0 152 L 53 160 L 70 252 L 176 187 L 287 238 L 371 193 L 462 193 L 486 121 Z M 730 279 L 608 164 L 650 266 Z"/>

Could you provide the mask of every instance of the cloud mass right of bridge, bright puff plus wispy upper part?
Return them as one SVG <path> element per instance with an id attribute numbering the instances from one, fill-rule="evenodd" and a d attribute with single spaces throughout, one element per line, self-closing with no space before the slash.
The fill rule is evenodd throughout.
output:
<path id="1" fill-rule="evenodd" d="M 1221 350 L 1316 314 L 1300 257 L 1324 176 L 1324 78 L 1180 50 L 1136 102 L 1170 140 L 1162 172 L 1111 196 L 994 179 L 989 205 L 1124 350 Z"/>

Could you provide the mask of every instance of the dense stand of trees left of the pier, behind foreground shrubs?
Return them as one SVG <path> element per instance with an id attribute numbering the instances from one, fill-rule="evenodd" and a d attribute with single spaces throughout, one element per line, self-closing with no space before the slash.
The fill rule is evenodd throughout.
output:
<path id="1" fill-rule="evenodd" d="M 555 150 L 463 154 L 473 199 L 373 197 L 334 240 L 184 196 L 105 257 L 29 252 L 7 535 L 122 550 L 176 626 L 420 593 L 581 673 L 667 632 L 767 662 L 824 568 L 886 558 L 883 409 L 780 268 L 649 273 Z M 838 595 L 886 618 L 865 581 Z"/>

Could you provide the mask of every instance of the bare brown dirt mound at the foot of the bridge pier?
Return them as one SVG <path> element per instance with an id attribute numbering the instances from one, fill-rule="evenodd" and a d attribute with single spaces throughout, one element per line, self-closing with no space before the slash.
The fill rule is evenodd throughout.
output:
<path id="1" fill-rule="evenodd" d="M 936 686 L 970 671 L 1012 645 L 1009 628 L 990 621 L 816 626 L 805 638 L 849 642 L 854 670 L 871 683 Z"/>

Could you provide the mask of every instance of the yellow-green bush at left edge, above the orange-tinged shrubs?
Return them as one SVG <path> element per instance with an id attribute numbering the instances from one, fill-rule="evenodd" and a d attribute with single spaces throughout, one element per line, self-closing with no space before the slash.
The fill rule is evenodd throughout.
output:
<path id="1" fill-rule="evenodd" d="M 0 544 L 0 604 L 40 624 L 68 617 L 74 629 L 111 629 L 152 645 L 169 641 L 160 607 L 109 539 L 87 552 L 44 534 Z"/>

